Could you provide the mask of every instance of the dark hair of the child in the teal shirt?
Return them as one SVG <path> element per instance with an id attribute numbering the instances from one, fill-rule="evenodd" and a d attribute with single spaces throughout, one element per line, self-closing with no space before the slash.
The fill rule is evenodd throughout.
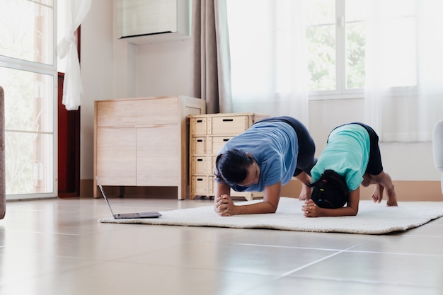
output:
<path id="1" fill-rule="evenodd" d="M 308 186 L 313 187 L 311 199 L 318 207 L 341 208 L 349 198 L 345 178 L 334 170 L 325 170 L 316 182 L 309 183 Z"/>

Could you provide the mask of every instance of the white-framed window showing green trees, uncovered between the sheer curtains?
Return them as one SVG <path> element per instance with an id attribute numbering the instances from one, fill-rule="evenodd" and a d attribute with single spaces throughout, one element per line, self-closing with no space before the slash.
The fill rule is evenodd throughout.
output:
<path id="1" fill-rule="evenodd" d="M 362 1 L 307 2 L 310 91 L 364 87 L 364 6 Z"/>

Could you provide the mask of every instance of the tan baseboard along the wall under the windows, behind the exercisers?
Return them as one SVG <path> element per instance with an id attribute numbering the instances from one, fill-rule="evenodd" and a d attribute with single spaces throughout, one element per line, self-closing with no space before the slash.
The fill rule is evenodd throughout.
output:
<path id="1" fill-rule="evenodd" d="M 439 181 L 410 181 L 394 180 L 398 201 L 443 201 L 442 186 Z M 301 183 L 291 180 L 282 187 L 282 195 L 285 197 L 299 197 Z M 374 185 L 360 187 L 361 199 L 370 199 Z"/>

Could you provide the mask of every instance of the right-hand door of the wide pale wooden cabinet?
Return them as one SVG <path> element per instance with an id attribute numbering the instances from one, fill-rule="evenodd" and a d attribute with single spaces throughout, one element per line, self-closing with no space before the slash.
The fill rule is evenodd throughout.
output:
<path id="1" fill-rule="evenodd" d="M 178 131 L 178 125 L 137 127 L 137 185 L 180 185 Z"/>

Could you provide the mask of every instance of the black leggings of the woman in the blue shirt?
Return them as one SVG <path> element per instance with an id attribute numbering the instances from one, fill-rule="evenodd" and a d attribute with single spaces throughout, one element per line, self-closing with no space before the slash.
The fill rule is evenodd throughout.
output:
<path id="1" fill-rule="evenodd" d="M 299 155 L 297 157 L 297 167 L 294 171 L 294 176 L 299 175 L 302 171 L 306 172 L 309 176 L 311 175 L 312 167 L 317 163 L 317 159 L 314 158 L 316 153 L 316 144 L 313 142 L 311 134 L 309 134 L 308 129 L 299 120 L 288 117 L 269 117 L 258 122 L 285 122 L 294 128 L 297 134 L 299 143 Z M 258 122 L 255 122 L 257 124 Z"/>

